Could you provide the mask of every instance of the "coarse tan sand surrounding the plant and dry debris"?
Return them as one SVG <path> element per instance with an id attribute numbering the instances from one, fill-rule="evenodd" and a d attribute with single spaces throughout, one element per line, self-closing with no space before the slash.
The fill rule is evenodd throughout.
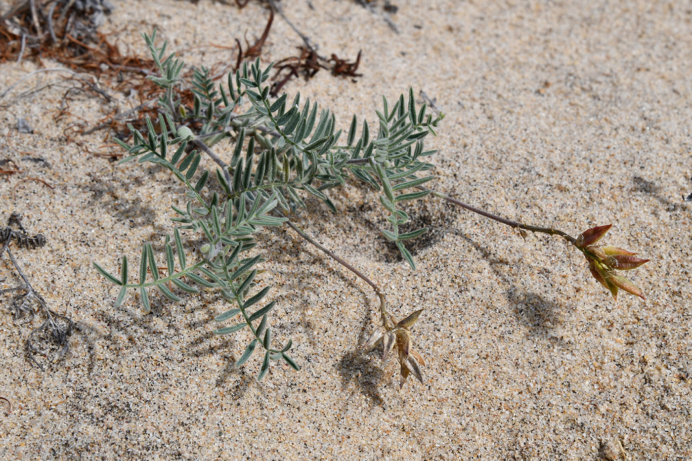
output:
<path id="1" fill-rule="evenodd" d="M 118 31 L 123 51 L 144 55 L 138 34 L 156 26 L 196 65 L 232 60 L 209 45 L 245 33 L 252 42 L 267 17 L 256 2 L 113 3 L 102 30 Z M 682 199 L 692 192 L 692 3 L 399 0 L 394 13 L 373 3 L 282 0 L 322 54 L 363 51 L 357 82 L 321 71 L 285 91 L 333 109 L 343 129 L 352 114 L 374 122 L 383 94 L 424 91 L 446 114 L 426 138 L 439 150 L 433 188 L 571 235 L 613 223 L 604 242 L 651 259 L 626 274 L 646 300 L 612 300 L 558 237 L 524 241 L 431 198 L 408 208 L 431 229 L 410 245 L 412 272 L 379 233 L 376 192 L 354 183 L 332 192 L 342 213 L 310 201 L 316 213 L 296 222 L 376 280 L 394 314 L 426 309 L 412 329 L 426 381 L 399 390 L 395 359 L 357 349 L 378 320 L 376 296 L 280 228 L 260 234 L 260 287 L 275 285 L 275 337 L 293 338 L 302 370 L 273 363 L 257 382 L 259 354 L 234 366 L 246 332 L 212 334 L 228 309 L 214 293 L 154 293 L 148 315 L 131 294 L 113 309 L 117 290 L 92 262 L 116 273 L 122 255 L 138 264 L 142 242 L 160 250 L 182 188 L 153 166 L 94 156 L 118 150 L 100 148 L 106 132 L 71 127 L 136 100 L 73 92 L 71 115 L 55 120 L 75 83 L 45 73 L 0 100 L 0 158 L 23 170 L 0 176 L 0 222 L 17 211 L 46 236 L 44 248 L 13 252 L 78 331 L 64 360 L 39 357 L 41 372 L 24 350 L 30 325 L 0 298 L 0 397 L 10 402 L 0 400 L 0 458 L 692 459 L 692 202 Z M 277 16 L 263 59 L 300 44 Z M 0 93 L 35 69 L 1 65 Z M 12 129 L 17 117 L 33 134 Z M 15 284 L 3 257 L 0 288 Z"/>

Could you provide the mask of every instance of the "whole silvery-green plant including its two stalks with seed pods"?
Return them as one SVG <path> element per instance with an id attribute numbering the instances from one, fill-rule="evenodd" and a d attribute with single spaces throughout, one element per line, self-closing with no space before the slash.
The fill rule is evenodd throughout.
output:
<path id="1" fill-rule="evenodd" d="M 363 347 L 382 341 L 386 358 L 396 345 L 401 386 L 408 374 L 422 382 L 424 359 L 413 349 L 410 334 L 421 310 L 401 321 L 394 318 L 375 282 L 291 222 L 299 208 L 306 208 L 309 215 L 311 210 L 304 201 L 308 195 L 336 211 L 329 194 L 347 181 L 359 181 L 380 192 L 379 203 L 388 215 L 388 228 L 381 232 L 396 244 L 411 269 L 415 269 L 415 263 L 406 241 L 427 229 L 404 232 L 402 226 L 410 219 L 401 204 L 433 195 L 518 228 L 522 235 L 531 231 L 563 237 L 585 255 L 594 278 L 613 296 L 617 296 L 618 289 L 642 296 L 617 271 L 634 269 L 646 260 L 621 248 L 596 245 L 609 226 L 586 230 L 574 238 L 561 230 L 502 219 L 426 187 L 434 179 L 428 174 L 433 165 L 427 160 L 435 151 L 425 149 L 424 139 L 435 134 L 444 114 L 427 114 L 426 104 L 416 104 L 412 89 L 408 98 L 401 95 L 393 105 L 383 98 L 383 107 L 375 111 L 374 125 L 367 121 L 359 125 L 354 116 L 347 131 L 342 132 L 336 128 L 330 111 L 319 109 L 310 100 L 302 101 L 300 94 L 270 98 L 265 82 L 271 65 L 262 69 L 257 60 L 243 64 L 218 85 L 207 69 L 194 71 L 194 102 L 186 106 L 176 97 L 176 88 L 185 83 L 180 78 L 183 62 L 174 54 L 165 57 L 165 44 L 157 48 L 155 36 L 144 35 L 160 71 L 160 75 L 150 77 L 161 87 L 158 120 L 147 118 L 146 132 L 130 126 L 131 144 L 115 141 L 129 154 L 122 163 L 149 162 L 169 170 L 187 187 L 187 203 L 172 206 L 172 235 L 166 237 L 163 256 L 155 255 L 151 244 L 143 245 L 134 280 L 130 278 L 127 257 L 122 257 L 118 276 L 95 264 L 105 278 L 121 287 L 116 305 L 131 290 L 139 293 L 145 311 L 150 309 L 149 293 L 154 288 L 174 301 L 181 300 L 183 292 L 217 290 L 228 300 L 229 309 L 215 320 L 231 325 L 215 332 L 251 332 L 251 341 L 236 365 L 245 363 L 255 350 L 262 350 L 258 379 L 264 377 L 271 361 L 286 361 L 299 370 L 289 356 L 290 339 L 283 345 L 273 345 L 268 319 L 277 301 L 266 301 L 271 286 L 257 289 L 255 285 L 264 262 L 255 250 L 255 235 L 266 226 L 290 226 L 370 284 L 379 297 L 381 324 L 374 327 L 374 334 Z M 215 145 L 218 148 L 212 150 Z M 199 168 L 205 154 L 217 163 L 214 172 Z M 203 244 L 192 243 L 200 236 Z M 159 273 L 158 261 L 162 259 L 164 274 Z"/>

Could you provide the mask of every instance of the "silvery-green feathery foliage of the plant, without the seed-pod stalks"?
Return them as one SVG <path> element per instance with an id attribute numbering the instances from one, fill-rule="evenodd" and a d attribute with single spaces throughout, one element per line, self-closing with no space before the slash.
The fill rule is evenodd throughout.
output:
<path id="1" fill-rule="evenodd" d="M 249 359 L 259 343 L 264 349 L 264 359 L 258 379 L 266 376 L 272 360 L 283 360 L 291 368 L 300 370 L 288 355 L 291 340 L 281 351 L 271 349 L 273 329 L 268 325 L 268 314 L 277 301 L 260 307 L 270 287 L 257 291 L 257 274 L 262 271 L 255 269 L 255 264 L 264 259 L 260 255 L 248 257 L 250 253 L 245 253 L 257 244 L 255 233 L 263 226 L 284 224 L 287 219 L 284 211 L 291 213 L 298 208 L 307 209 L 302 198 L 306 195 L 300 189 L 325 201 L 331 210 L 336 211 L 334 203 L 325 195 L 327 189 L 342 186 L 356 177 L 381 192 L 378 195 L 383 207 L 390 212 L 386 219 L 392 226 L 383 230 L 383 235 L 397 244 L 408 264 L 415 269 L 412 256 L 403 242 L 419 237 L 427 229 L 401 233 L 400 227 L 410 219 L 402 210 L 397 210 L 397 202 L 430 193 L 415 188 L 421 188 L 432 177 L 419 178 L 416 174 L 432 168 L 430 163 L 419 160 L 433 152 L 424 151 L 423 137 L 430 132 L 434 134 L 432 127 L 437 127 L 442 116 L 433 119 L 426 115 L 425 104 L 417 111 L 413 89 L 409 88 L 408 94 L 399 96 L 393 107 L 388 107 L 388 101 L 383 98 L 384 109 L 376 112 L 379 120 L 376 120 L 372 136 L 370 125 L 363 120 L 358 137 L 359 120 L 356 116 L 349 120 L 348 129 L 342 132 L 330 111 L 318 111 L 318 105 L 310 100 L 300 105 L 300 94 L 291 103 L 285 93 L 273 102 L 269 100 L 270 87 L 263 86 L 262 82 L 269 78 L 271 66 L 263 70 L 259 60 L 245 62 L 240 69 L 229 73 L 228 87 L 225 82 L 217 87 L 208 69 L 194 70 L 191 82 L 185 82 L 192 84 L 194 93 L 191 111 L 176 98 L 168 98 L 170 90 L 182 83 L 179 77 L 183 62 L 174 54 L 166 55 L 165 46 L 154 46 L 154 35 L 146 39 L 158 67 L 158 75 L 150 80 L 168 92 L 160 98 L 162 104 L 158 120 L 153 120 L 153 123 L 144 120 L 146 132 L 129 125 L 132 145 L 120 140 L 115 142 L 127 150 L 128 157 L 124 161 L 137 159 L 161 165 L 183 180 L 189 190 L 185 193 L 188 202 L 174 208 L 177 215 L 172 220 L 181 226 L 174 229 L 174 242 L 167 238 L 163 243 L 166 277 L 162 278 L 158 273 L 156 260 L 161 258 L 154 256 L 151 244 L 144 244 L 139 283 L 129 287 L 139 289 L 145 311 L 151 309 L 147 290 L 153 286 L 173 300 L 180 299 L 173 293 L 173 286 L 181 290 L 176 290 L 178 293 L 199 293 L 201 287 L 212 288 L 235 305 L 235 308 L 215 317 L 217 322 L 231 320 L 235 325 L 215 329 L 214 333 L 230 334 L 249 325 L 255 335 L 237 366 Z M 169 107 L 170 102 L 172 107 Z M 181 129 L 176 129 L 176 121 Z M 183 129 L 184 125 L 195 126 L 198 141 L 192 141 L 190 129 Z M 247 138 L 246 130 L 252 130 Z M 277 132 L 279 136 L 275 136 Z M 209 134 L 212 135 L 206 136 Z M 345 136 L 339 143 L 341 134 Z M 233 143 L 233 147 L 229 146 L 228 150 L 228 168 L 215 169 L 218 183 L 210 187 L 210 173 L 204 168 L 198 175 L 199 179 L 192 181 L 203 152 L 193 150 L 188 153 L 190 142 L 201 147 L 202 140 L 211 146 L 222 139 Z M 201 197 L 202 190 L 208 187 L 211 189 L 210 198 Z M 186 265 L 179 229 L 190 229 L 201 238 L 199 245 L 197 242 L 185 243 L 190 244 L 188 251 L 195 257 L 192 267 Z M 260 239 L 260 243 L 266 242 L 266 239 Z M 195 250 L 198 247 L 206 251 L 198 252 Z M 270 253 L 264 251 L 262 254 Z M 174 272 L 176 258 L 181 268 L 178 273 Z M 122 258 L 119 277 L 98 264 L 95 267 L 109 282 L 119 285 L 116 304 L 124 301 L 129 278 L 127 259 Z M 148 271 L 152 272 L 150 277 L 147 277 Z M 251 297 L 244 300 L 247 296 Z M 257 310 L 251 312 L 251 309 Z M 246 321 L 239 318 L 241 314 Z M 257 320 L 260 322 L 255 329 Z"/>

